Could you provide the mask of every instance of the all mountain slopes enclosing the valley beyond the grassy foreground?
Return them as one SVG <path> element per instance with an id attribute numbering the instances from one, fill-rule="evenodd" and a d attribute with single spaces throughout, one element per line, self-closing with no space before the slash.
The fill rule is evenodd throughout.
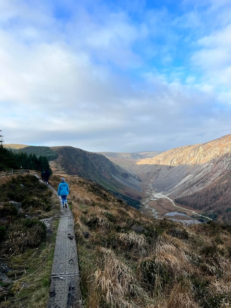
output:
<path id="1" fill-rule="evenodd" d="M 53 172 L 94 181 L 130 205 L 138 208 L 141 203 L 140 210 L 148 215 L 166 217 L 168 212 L 176 211 L 176 205 L 182 207 L 180 212 L 187 217 L 192 217 L 196 210 L 231 223 L 231 134 L 166 152 L 51 149 L 58 154 L 58 158 L 50 161 Z M 172 218 L 181 220 L 178 210 Z"/>

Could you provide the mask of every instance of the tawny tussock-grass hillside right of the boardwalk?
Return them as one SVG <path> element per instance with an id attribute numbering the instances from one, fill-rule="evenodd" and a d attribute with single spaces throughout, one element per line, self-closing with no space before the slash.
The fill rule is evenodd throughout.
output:
<path id="1" fill-rule="evenodd" d="M 230 226 L 150 218 L 96 183 L 65 178 L 85 308 L 231 307 Z"/>

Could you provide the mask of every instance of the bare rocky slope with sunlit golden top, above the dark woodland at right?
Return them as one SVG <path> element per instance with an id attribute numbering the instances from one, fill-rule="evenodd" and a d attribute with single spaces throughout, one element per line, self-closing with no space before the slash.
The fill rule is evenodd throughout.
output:
<path id="1" fill-rule="evenodd" d="M 171 198 L 192 194 L 231 169 L 231 134 L 194 146 L 172 149 L 137 162 L 137 173 Z"/>

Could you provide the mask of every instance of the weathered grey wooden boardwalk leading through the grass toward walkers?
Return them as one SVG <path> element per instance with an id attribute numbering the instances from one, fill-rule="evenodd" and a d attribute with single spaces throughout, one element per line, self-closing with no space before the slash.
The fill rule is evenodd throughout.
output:
<path id="1" fill-rule="evenodd" d="M 49 187 L 52 188 L 50 185 Z M 81 308 L 79 264 L 73 214 L 68 205 L 67 208 L 62 208 L 60 197 L 59 204 L 61 216 L 56 236 L 50 298 L 47 308 Z"/>

